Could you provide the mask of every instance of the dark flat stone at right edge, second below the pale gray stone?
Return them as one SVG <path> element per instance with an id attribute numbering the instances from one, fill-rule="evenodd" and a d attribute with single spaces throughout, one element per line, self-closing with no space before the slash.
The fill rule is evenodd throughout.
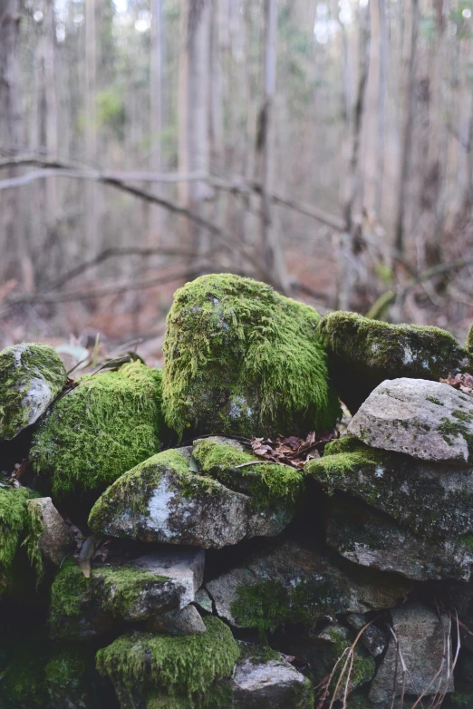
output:
<path id="1" fill-rule="evenodd" d="M 473 569 L 468 539 L 420 539 L 374 510 L 335 498 L 328 513 L 327 543 L 355 564 L 416 581 L 468 581 Z"/>

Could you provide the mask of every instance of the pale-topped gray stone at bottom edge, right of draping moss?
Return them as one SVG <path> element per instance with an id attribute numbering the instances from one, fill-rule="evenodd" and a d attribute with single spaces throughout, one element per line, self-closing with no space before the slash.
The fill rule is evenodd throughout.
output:
<path id="1" fill-rule="evenodd" d="M 244 656 L 232 676 L 232 706 L 235 709 L 312 709 L 311 683 L 283 656 L 269 659 Z"/>

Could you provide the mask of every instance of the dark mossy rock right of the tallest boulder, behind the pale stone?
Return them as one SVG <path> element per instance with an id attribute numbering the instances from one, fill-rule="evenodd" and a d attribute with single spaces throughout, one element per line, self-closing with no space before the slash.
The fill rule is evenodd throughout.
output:
<path id="1" fill-rule="evenodd" d="M 352 413 L 385 379 L 439 381 L 473 368 L 471 355 L 438 327 L 390 325 L 340 311 L 323 316 L 318 332 L 333 384 Z"/>

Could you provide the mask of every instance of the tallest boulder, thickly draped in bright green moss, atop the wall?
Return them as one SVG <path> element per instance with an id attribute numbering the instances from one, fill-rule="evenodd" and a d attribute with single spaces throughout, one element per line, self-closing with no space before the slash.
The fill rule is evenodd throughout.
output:
<path id="1" fill-rule="evenodd" d="M 166 421 L 182 434 L 329 431 L 340 415 L 319 315 L 231 274 L 180 288 L 164 343 Z"/>

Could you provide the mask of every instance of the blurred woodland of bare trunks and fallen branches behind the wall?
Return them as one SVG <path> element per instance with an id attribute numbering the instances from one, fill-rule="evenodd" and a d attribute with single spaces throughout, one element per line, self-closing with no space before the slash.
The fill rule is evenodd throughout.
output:
<path id="1" fill-rule="evenodd" d="M 0 0 L 0 346 L 140 339 L 233 271 L 473 320 L 470 0 Z"/>

